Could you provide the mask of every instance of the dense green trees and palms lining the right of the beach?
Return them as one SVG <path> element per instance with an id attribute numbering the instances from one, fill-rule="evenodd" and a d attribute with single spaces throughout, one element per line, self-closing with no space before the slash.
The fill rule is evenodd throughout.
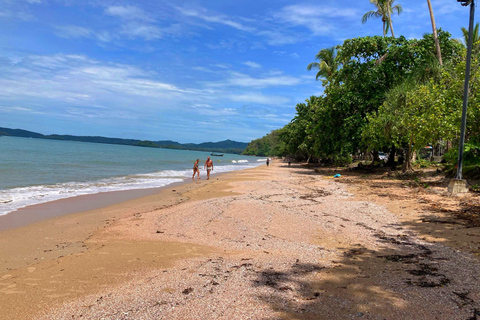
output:
<path id="1" fill-rule="evenodd" d="M 291 122 L 272 132 L 276 140 L 269 134 L 252 144 L 261 145 L 262 139 L 268 139 L 276 143 L 270 147 L 275 152 L 269 155 L 339 165 L 350 163 L 361 153 L 371 153 L 376 161 L 379 151 L 389 152 L 393 162 L 397 153 L 404 160 L 404 171 L 412 169 L 412 161 L 422 148 L 444 144 L 450 147 L 445 158 L 456 161 L 468 32 L 462 29 L 462 43 L 446 31 L 437 31 L 431 12 L 435 32 L 421 39 L 395 38 L 391 15 L 401 13 L 401 7 L 393 6 L 394 0 L 370 2 L 379 13 L 367 13 L 363 21 L 381 17 L 383 36 L 348 39 L 320 50 L 315 57 L 318 62 L 307 69 L 318 70 L 316 79 L 322 81 L 323 95 L 297 104 Z M 480 162 L 478 24 L 475 30 L 467 165 L 468 161 Z M 391 37 L 387 37 L 388 31 Z M 254 154 L 251 149 L 249 152 Z"/>

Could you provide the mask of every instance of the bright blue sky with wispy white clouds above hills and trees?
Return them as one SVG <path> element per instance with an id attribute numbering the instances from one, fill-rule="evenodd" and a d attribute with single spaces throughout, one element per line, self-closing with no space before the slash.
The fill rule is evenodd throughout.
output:
<path id="1" fill-rule="evenodd" d="M 469 9 L 431 0 L 461 38 Z M 432 27 L 396 0 L 395 35 Z M 382 35 L 368 0 L 0 0 L 0 127 L 43 134 L 250 142 L 321 95 L 319 50 Z M 480 14 L 480 13 L 479 13 Z"/>

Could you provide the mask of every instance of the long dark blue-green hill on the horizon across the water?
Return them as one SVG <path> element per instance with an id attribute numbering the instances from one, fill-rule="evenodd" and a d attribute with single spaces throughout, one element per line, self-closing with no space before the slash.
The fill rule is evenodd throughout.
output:
<path id="1" fill-rule="evenodd" d="M 225 141 L 219 141 L 219 142 L 204 142 L 199 144 L 196 144 L 196 143 L 182 144 L 182 143 L 171 141 L 171 140 L 149 141 L 149 140 L 136 140 L 136 139 L 107 138 L 107 137 L 99 137 L 99 136 L 72 136 L 72 135 L 59 135 L 59 134 L 44 135 L 41 133 L 22 130 L 22 129 L 10 129 L 10 128 L 2 128 L 2 127 L 0 127 L 0 136 L 121 144 L 121 145 L 137 146 L 137 147 L 148 147 L 148 148 L 166 148 L 166 149 L 195 150 L 195 151 L 236 153 L 236 154 L 242 153 L 243 150 L 245 150 L 245 148 L 248 146 L 248 143 L 237 142 L 232 140 L 225 140 Z"/>

